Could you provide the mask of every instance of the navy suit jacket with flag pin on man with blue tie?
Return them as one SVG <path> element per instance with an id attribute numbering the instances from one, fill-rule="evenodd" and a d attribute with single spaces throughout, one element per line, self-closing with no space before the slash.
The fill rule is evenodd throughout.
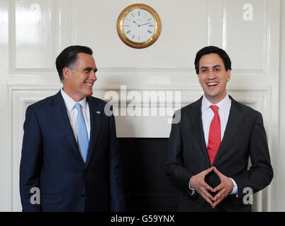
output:
<path id="1" fill-rule="evenodd" d="M 86 164 L 60 92 L 27 108 L 20 165 L 23 211 L 125 210 L 115 119 L 104 114 L 103 100 L 86 100 L 91 124 Z M 30 202 L 33 187 L 40 189 L 40 204 Z"/>

